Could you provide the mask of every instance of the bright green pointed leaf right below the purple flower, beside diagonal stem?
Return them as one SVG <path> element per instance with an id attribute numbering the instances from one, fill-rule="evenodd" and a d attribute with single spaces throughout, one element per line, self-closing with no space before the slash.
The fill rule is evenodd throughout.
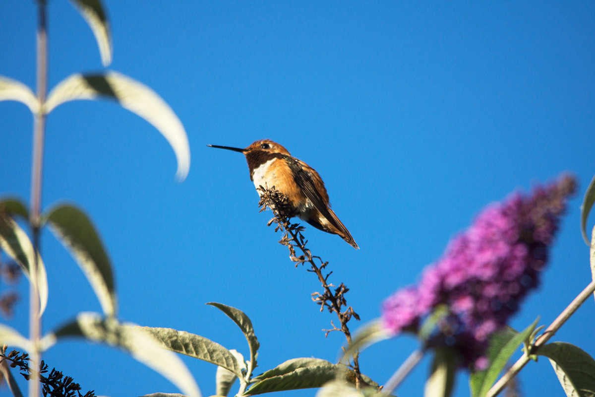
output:
<path id="1" fill-rule="evenodd" d="M 538 321 L 539 318 L 533 321 L 533 324 L 525 328 L 521 333 L 509 327 L 494 333 L 487 350 L 487 358 L 490 361 L 490 366 L 485 371 L 477 371 L 471 374 L 469 383 L 473 397 L 483 397 L 487 394 L 508 360 L 510 360 L 522 342 L 531 335 Z"/>

